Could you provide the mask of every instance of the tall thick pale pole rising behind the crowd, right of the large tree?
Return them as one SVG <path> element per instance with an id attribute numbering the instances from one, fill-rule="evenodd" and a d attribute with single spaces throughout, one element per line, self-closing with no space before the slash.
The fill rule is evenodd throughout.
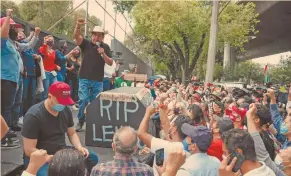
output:
<path id="1" fill-rule="evenodd" d="M 218 11 L 219 11 L 219 1 L 213 0 L 205 83 L 213 82 L 215 54 L 216 54 L 216 35 L 217 35 L 217 27 L 218 27 L 218 24 L 217 24 Z"/>

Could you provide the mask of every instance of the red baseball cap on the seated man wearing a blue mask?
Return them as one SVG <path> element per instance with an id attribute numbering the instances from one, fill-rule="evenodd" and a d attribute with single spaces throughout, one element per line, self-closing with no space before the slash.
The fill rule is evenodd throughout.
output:
<path id="1" fill-rule="evenodd" d="M 71 98 L 71 88 L 64 82 L 55 82 L 49 88 L 49 93 L 52 94 L 58 102 L 64 106 L 72 105 L 75 102 Z"/>

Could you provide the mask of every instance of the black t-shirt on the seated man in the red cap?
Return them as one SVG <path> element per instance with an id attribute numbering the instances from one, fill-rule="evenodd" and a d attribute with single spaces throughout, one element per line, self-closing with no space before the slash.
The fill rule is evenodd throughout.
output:
<path id="1" fill-rule="evenodd" d="M 66 147 L 65 133 L 73 126 L 73 115 L 68 107 L 55 117 L 47 111 L 43 101 L 25 114 L 21 133 L 25 138 L 37 139 L 37 149 L 44 149 L 53 155 Z"/>

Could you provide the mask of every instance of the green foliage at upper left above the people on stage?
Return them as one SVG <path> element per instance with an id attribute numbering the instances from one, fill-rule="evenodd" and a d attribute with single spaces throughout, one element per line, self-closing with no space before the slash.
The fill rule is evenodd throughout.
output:
<path id="1" fill-rule="evenodd" d="M 22 1 L 19 6 L 20 18 L 28 21 L 42 30 L 48 30 L 58 20 L 73 9 L 72 1 Z M 78 18 L 85 18 L 86 11 L 78 9 L 65 17 L 60 23 L 51 29 L 51 33 L 72 39 L 74 27 Z M 88 17 L 88 30 L 102 22 L 96 16 Z"/>

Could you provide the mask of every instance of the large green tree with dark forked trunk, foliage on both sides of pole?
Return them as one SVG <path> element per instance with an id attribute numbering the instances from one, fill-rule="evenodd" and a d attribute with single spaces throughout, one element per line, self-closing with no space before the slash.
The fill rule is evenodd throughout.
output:
<path id="1" fill-rule="evenodd" d="M 183 82 L 207 53 L 210 12 L 208 4 L 197 1 L 138 1 L 132 8 L 137 35 L 153 41 L 155 54 L 168 53 L 179 63 Z M 245 36 L 255 32 L 256 17 L 253 3 L 230 2 L 219 17 L 218 41 L 242 48 Z"/>

